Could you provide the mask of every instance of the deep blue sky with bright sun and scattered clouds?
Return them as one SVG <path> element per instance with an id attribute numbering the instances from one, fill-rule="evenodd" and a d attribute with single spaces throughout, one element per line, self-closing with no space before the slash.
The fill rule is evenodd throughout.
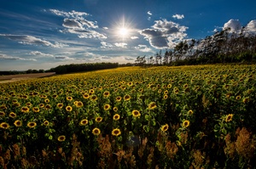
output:
<path id="1" fill-rule="evenodd" d="M 1 0 L 0 70 L 134 63 L 224 27 L 256 31 L 255 0 Z"/>

